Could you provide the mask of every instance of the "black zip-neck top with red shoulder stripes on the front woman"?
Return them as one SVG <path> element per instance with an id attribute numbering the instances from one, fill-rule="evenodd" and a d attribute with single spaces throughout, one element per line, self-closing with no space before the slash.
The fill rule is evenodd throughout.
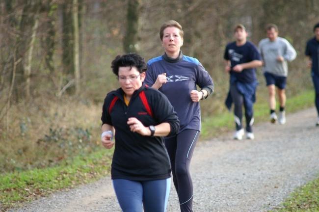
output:
<path id="1" fill-rule="evenodd" d="M 143 105 L 139 93 L 145 92 L 146 99 L 153 112 L 150 116 Z M 164 146 L 163 137 L 143 136 L 131 132 L 127 124 L 128 118 L 135 117 L 144 126 L 170 124 L 174 135 L 180 130 L 179 120 L 173 106 L 158 90 L 143 84 L 133 93 L 129 106 L 123 99 L 121 88 L 107 94 L 102 112 L 102 123 L 115 128 L 115 150 L 112 159 L 112 179 L 127 180 L 160 180 L 170 177 L 170 162 Z M 108 108 L 114 97 L 118 100 L 109 114 Z"/>

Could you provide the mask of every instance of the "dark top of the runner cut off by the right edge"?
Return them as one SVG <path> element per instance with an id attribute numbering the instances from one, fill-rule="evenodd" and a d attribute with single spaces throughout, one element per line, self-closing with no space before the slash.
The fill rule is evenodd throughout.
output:
<path id="1" fill-rule="evenodd" d="M 312 73 L 315 74 L 316 76 L 319 76 L 319 41 L 316 39 L 316 37 L 310 39 L 307 42 L 305 54 L 311 57 Z"/>

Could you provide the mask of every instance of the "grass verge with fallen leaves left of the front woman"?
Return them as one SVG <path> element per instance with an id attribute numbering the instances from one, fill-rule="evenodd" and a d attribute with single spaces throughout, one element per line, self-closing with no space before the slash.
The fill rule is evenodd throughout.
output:
<path id="1" fill-rule="evenodd" d="M 107 176 L 111 154 L 112 151 L 102 149 L 89 156 L 65 161 L 59 166 L 0 175 L 0 211 L 56 190 Z"/>

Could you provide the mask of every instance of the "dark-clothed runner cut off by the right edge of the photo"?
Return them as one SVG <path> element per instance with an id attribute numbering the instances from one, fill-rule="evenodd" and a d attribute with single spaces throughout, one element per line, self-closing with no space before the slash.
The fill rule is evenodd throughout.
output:
<path id="1" fill-rule="evenodd" d="M 315 37 L 307 42 L 306 55 L 309 56 L 308 66 L 311 67 L 311 77 L 316 92 L 315 105 L 318 112 L 316 125 L 319 126 L 319 23 L 315 25 L 314 33 Z"/>

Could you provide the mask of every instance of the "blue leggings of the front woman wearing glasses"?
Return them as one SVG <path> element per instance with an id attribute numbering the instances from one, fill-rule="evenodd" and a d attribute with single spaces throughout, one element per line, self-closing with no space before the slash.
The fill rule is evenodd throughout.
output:
<path id="1" fill-rule="evenodd" d="M 171 178 L 154 181 L 114 179 L 113 187 L 123 212 L 165 212 Z"/>

